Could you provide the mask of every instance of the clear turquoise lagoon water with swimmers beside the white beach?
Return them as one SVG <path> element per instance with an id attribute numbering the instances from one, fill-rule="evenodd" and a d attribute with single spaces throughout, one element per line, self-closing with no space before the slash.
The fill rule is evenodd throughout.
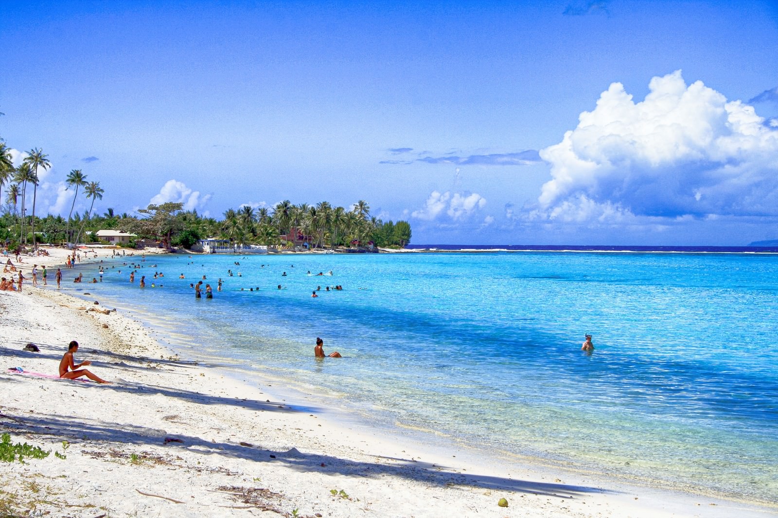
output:
<path id="1" fill-rule="evenodd" d="M 379 425 L 778 503 L 778 255 L 174 255 L 134 285 L 111 264 L 93 295 L 175 316 L 205 351 Z M 195 300 L 202 275 L 224 291 Z M 313 360 L 317 336 L 346 358 Z"/>

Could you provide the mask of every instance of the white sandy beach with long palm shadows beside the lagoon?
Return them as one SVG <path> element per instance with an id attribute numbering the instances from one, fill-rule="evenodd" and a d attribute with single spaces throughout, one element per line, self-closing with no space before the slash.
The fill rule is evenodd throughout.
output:
<path id="1" fill-rule="evenodd" d="M 24 258 L 24 275 L 35 262 L 61 264 L 64 254 Z M 110 250 L 98 254 L 110 257 Z M 0 292 L 0 431 L 13 443 L 59 453 L 68 441 L 67 460 L 52 453 L 29 464 L 0 464 L 0 515 L 254 516 L 263 508 L 282 516 L 294 509 L 300 516 L 776 514 L 501 462 L 455 445 L 426 448 L 361 428 L 313 394 L 284 401 L 287 394 L 252 373 L 173 355 L 124 312 L 90 311 L 105 308 L 58 293 L 54 271 L 46 289 L 26 281 L 21 294 Z M 72 282 L 63 272 L 63 282 Z M 92 360 L 89 369 L 113 385 L 6 370 L 54 373 L 72 339 L 82 345 L 77 360 Z M 40 352 L 22 350 L 30 341 Z M 509 506 L 499 507 L 500 498 Z"/>

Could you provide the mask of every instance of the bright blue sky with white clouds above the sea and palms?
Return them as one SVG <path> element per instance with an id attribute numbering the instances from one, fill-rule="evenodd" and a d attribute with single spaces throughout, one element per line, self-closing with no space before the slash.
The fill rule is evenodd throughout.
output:
<path id="1" fill-rule="evenodd" d="M 47 152 L 64 215 L 81 169 L 100 212 L 365 199 L 415 243 L 778 239 L 775 2 L 538 3 L 3 2 L 0 137 Z"/>

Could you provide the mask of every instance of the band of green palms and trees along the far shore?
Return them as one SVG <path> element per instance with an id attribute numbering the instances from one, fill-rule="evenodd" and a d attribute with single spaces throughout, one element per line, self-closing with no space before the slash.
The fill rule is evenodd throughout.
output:
<path id="1" fill-rule="evenodd" d="M 242 205 L 224 212 L 220 220 L 202 217 L 195 210 L 184 211 L 183 204 L 172 202 L 142 208 L 138 217 L 114 214 L 113 208 L 103 215 L 93 214 L 95 201 L 103 199 L 104 191 L 99 182 L 87 181 L 87 175 L 77 169 L 65 179 L 68 189 L 73 190 L 68 218 L 40 218 L 35 215 L 38 172 L 49 169 L 51 163 L 41 149 L 31 149 L 27 154 L 23 163 L 14 167 L 10 148 L 0 139 L 0 242 L 9 240 L 12 249 L 34 246 L 36 242 L 94 243 L 100 229 L 135 233 L 138 240 L 159 240 L 163 247 L 184 248 L 206 237 L 240 245 L 307 248 L 366 247 L 371 243 L 376 247 L 405 247 L 411 240 L 408 222 L 384 222 L 371 216 L 370 205 L 364 200 L 350 209 L 333 207 L 328 201 L 293 205 L 285 200 L 273 208 Z M 32 214 L 27 215 L 30 185 L 33 207 Z M 74 211 L 79 192 L 91 200 L 89 210 L 82 214 Z"/>

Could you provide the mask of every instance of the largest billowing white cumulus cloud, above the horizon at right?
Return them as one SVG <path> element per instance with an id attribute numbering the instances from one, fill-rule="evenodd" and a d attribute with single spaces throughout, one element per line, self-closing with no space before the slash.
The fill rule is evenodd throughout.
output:
<path id="1" fill-rule="evenodd" d="M 778 131 L 748 104 L 687 86 L 681 71 L 649 89 L 635 103 L 613 83 L 562 142 L 541 149 L 552 180 L 535 216 L 778 214 Z"/>

